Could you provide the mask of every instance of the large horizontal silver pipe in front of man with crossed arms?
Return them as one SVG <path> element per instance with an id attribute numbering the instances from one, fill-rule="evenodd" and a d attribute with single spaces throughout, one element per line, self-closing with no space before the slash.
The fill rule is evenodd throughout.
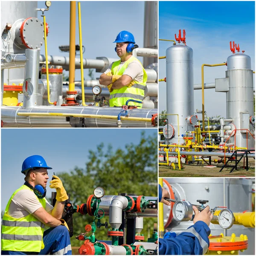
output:
<path id="1" fill-rule="evenodd" d="M 122 108 L 110 107 L 95 107 L 95 106 L 72 106 L 72 107 L 58 107 L 58 106 L 35 106 L 31 108 L 3 106 L 1 109 L 1 120 L 4 127 L 71 127 L 71 121 L 67 121 L 65 116 L 21 116 L 20 113 L 68 113 L 70 116 L 76 114 L 85 114 L 89 116 L 113 116 L 111 119 L 101 118 L 85 118 L 85 127 L 117 127 L 117 116 L 122 111 Z M 149 118 L 157 113 L 157 109 L 129 109 L 128 119 L 122 119 L 122 127 L 152 127 Z M 125 116 L 124 116 L 125 117 Z M 126 118 L 126 117 L 125 117 Z M 134 121 L 131 121 L 131 118 Z M 137 118 L 146 118 L 144 122 L 138 122 Z M 73 127 L 81 127 L 80 118 L 72 119 Z"/>

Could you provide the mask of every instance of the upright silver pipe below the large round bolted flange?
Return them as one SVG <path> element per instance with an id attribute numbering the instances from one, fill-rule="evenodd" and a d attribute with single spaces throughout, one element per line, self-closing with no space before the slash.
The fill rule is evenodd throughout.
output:
<path id="1" fill-rule="evenodd" d="M 23 108 L 37 105 L 40 49 L 26 49 Z"/>

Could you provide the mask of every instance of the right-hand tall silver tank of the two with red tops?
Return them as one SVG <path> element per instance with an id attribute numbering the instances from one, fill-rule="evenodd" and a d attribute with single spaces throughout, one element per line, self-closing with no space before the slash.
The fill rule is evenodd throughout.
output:
<path id="1" fill-rule="evenodd" d="M 226 93 L 227 118 L 233 119 L 236 129 L 248 129 L 253 134 L 250 124 L 250 116 L 254 116 L 253 70 L 250 56 L 229 56 L 226 78 L 229 78 L 229 91 Z M 230 138 L 230 143 L 235 143 L 235 137 Z M 246 130 L 236 131 L 236 146 L 252 149 L 255 148 L 255 141 L 250 134 L 246 134 Z"/>

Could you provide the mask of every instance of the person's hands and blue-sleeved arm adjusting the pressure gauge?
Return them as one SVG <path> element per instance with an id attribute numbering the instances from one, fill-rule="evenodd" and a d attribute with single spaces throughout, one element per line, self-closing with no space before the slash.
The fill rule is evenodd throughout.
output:
<path id="1" fill-rule="evenodd" d="M 159 202 L 171 205 L 164 198 L 170 198 L 169 192 L 159 185 Z M 209 225 L 212 219 L 212 213 L 209 206 L 202 212 L 193 206 L 195 217 L 194 225 L 187 230 L 179 232 L 167 232 L 163 238 L 159 239 L 159 255 L 204 255 L 209 247 L 208 236 L 211 233 Z"/>

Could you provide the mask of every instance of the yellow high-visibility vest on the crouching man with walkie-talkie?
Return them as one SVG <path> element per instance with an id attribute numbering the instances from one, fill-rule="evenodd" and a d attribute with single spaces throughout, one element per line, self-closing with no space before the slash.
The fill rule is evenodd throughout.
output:
<path id="1" fill-rule="evenodd" d="M 12 218 L 7 214 L 12 198 L 22 189 L 33 191 L 28 186 L 23 185 L 12 194 L 3 215 L 1 247 L 2 250 L 40 252 L 41 249 L 44 249 L 44 224 L 32 214 L 23 218 Z M 45 198 L 37 199 L 45 209 Z"/>

